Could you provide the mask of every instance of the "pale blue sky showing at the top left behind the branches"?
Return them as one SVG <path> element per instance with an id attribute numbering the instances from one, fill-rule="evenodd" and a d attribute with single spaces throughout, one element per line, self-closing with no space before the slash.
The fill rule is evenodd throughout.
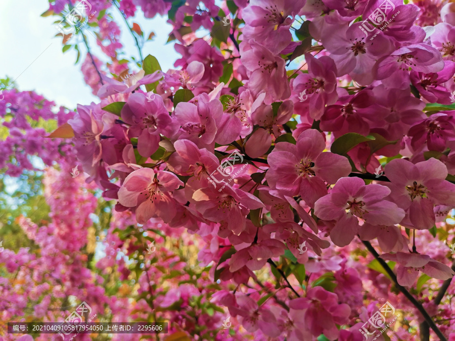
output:
<path id="1" fill-rule="evenodd" d="M 86 53 L 85 46 L 79 44 L 82 56 L 74 65 L 77 52 L 70 49 L 63 54 L 62 38 L 54 37 L 58 31 L 53 22 L 58 17 L 40 17 L 48 8 L 48 0 L 0 1 L 0 78 L 9 76 L 16 79 L 20 90 L 34 90 L 57 105 L 70 109 L 74 109 L 78 103 L 99 101 L 84 83 L 80 71 L 82 56 Z M 122 30 L 121 42 L 126 56 L 137 58 L 134 40 L 118 11 L 114 12 L 114 18 Z M 174 51 L 172 42 L 165 44 L 171 31 L 166 19 L 156 17 L 151 20 L 141 15 L 128 21 L 130 24 L 132 21 L 137 22 L 146 34 L 155 32 L 154 40 L 145 43 L 143 56 L 154 55 L 164 71 L 173 68 L 179 55 Z M 95 38 L 90 34 L 87 34 L 87 38 L 92 52 L 98 57 L 103 56 Z M 129 66 L 133 67 L 132 64 Z"/>

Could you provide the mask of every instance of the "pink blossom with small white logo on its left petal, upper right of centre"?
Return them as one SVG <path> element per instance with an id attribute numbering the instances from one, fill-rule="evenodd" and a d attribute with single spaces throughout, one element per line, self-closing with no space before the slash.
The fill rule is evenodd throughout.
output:
<path id="1" fill-rule="evenodd" d="M 308 96 L 310 117 L 319 120 L 326 105 L 334 104 L 337 94 L 337 67 L 332 58 L 323 56 L 319 59 L 311 54 L 305 54 L 308 63 L 308 73 L 298 75 L 293 81 L 293 93 L 297 97 L 301 94 Z M 305 102 L 306 103 L 306 102 Z"/>

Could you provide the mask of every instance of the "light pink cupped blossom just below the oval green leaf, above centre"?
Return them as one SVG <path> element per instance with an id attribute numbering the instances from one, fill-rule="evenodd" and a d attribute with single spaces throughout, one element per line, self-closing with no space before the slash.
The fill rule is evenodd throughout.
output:
<path id="1" fill-rule="evenodd" d="M 219 100 L 201 100 L 197 105 L 180 102 L 174 111 L 174 116 L 181 125 L 178 139 L 193 141 L 199 148 L 207 147 L 215 139 L 222 114 L 223 105 Z"/>

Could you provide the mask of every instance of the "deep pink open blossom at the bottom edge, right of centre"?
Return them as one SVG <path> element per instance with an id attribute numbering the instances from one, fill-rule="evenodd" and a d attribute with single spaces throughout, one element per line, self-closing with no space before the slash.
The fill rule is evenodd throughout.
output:
<path id="1" fill-rule="evenodd" d="M 289 308 L 299 311 L 304 316 L 305 326 L 314 337 L 324 334 L 329 340 L 339 335 L 337 324 L 348 322 L 351 308 L 347 304 L 338 304 L 338 296 L 322 286 L 308 289 L 306 297 L 289 302 Z"/>

